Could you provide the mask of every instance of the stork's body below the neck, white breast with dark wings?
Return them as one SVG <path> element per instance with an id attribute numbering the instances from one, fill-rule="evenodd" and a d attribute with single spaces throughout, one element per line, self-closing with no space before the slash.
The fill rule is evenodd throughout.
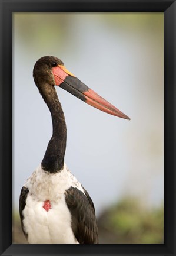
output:
<path id="1" fill-rule="evenodd" d="M 42 207 L 47 199 L 48 212 Z M 98 242 L 94 204 L 66 164 L 52 174 L 38 166 L 22 187 L 20 205 L 29 243 Z"/>

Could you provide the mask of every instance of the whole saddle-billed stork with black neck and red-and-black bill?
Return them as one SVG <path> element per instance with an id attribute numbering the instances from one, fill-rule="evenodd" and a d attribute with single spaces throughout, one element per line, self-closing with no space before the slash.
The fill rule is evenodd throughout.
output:
<path id="1" fill-rule="evenodd" d="M 32 244 L 98 244 L 94 203 L 64 163 L 66 124 L 55 85 L 101 111 L 129 119 L 89 89 L 57 57 L 39 59 L 34 81 L 51 112 L 52 137 L 19 198 L 22 230 Z"/>

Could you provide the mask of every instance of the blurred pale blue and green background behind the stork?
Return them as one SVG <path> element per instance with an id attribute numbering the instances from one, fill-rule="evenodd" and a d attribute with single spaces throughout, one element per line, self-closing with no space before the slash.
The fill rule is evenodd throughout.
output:
<path id="1" fill-rule="evenodd" d="M 32 70 L 42 56 L 127 114 L 105 114 L 57 88 L 67 122 L 65 162 L 91 196 L 99 242 L 164 242 L 163 13 L 13 14 L 13 242 L 26 243 L 18 200 L 41 163 L 52 122 Z"/>

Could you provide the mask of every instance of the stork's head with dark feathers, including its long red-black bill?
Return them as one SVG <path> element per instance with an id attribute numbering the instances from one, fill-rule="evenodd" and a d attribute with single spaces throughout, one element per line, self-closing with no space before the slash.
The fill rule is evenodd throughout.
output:
<path id="1" fill-rule="evenodd" d="M 42 86 L 46 88 L 46 85 L 48 85 L 49 88 L 49 86 L 57 85 L 85 103 L 94 106 L 94 108 L 120 118 L 130 119 L 69 72 L 62 60 L 57 57 L 45 56 L 36 61 L 33 76 L 40 92 L 42 91 Z"/>

